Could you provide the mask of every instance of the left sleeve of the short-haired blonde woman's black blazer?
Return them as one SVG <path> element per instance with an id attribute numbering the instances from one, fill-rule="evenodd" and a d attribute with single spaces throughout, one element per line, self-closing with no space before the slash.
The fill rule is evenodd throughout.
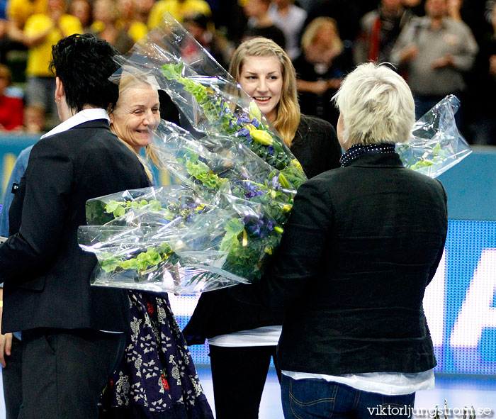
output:
<path id="1" fill-rule="evenodd" d="M 266 274 L 255 284 L 232 289 L 234 298 L 284 309 L 317 275 L 333 218 L 328 194 L 321 186 L 321 181 L 315 180 L 300 186 L 281 245 Z"/>

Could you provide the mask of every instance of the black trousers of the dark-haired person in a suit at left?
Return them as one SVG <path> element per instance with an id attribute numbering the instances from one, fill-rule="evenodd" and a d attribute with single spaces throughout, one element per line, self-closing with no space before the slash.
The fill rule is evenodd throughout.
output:
<path id="1" fill-rule="evenodd" d="M 23 331 L 19 419 L 97 419 L 98 398 L 125 345 L 124 333 Z"/>

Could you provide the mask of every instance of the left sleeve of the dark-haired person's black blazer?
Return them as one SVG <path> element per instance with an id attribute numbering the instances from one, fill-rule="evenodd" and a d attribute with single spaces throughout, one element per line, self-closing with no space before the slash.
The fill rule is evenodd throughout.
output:
<path id="1" fill-rule="evenodd" d="M 0 246 L 0 279 L 4 281 L 28 274 L 55 257 L 67 216 L 72 161 L 42 140 L 33 147 L 23 181 L 21 230 Z"/>

